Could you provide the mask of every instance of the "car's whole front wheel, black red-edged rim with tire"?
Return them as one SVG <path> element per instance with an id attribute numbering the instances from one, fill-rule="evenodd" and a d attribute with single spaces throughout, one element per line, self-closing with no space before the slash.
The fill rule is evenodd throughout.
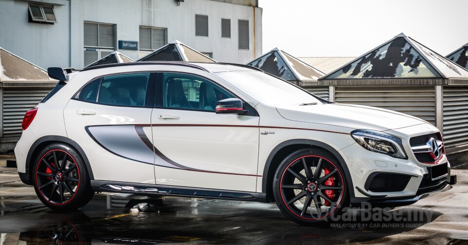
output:
<path id="1" fill-rule="evenodd" d="M 347 183 L 341 165 L 330 152 L 301 149 L 279 165 L 273 195 L 286 217 L 300 225 L 312 225 L 341 213 L 349 199 Z"/>

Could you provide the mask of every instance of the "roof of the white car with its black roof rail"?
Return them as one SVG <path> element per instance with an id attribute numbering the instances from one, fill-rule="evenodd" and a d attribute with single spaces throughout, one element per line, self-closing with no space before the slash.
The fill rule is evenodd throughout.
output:
<path id="1" fill-rule="evenodd" d="M 176 65 L 192 67 L 195 69 L 203 70 L 209 73 L 218 72 L 233 72 L 233 71 L 261 71 L 260 69 L 242 64 L 234 63 L 202 63 L 202 62 L 184 62 L 184 61 L 139 61 L 139 62 L 128 62 L 128 63 L 114 63 L 86 67 L 81 71 L 95 70 L 100 68 L 108 67 L 121 67 L 121 66 L 135 66 L 135 65 Z M 263 72 L 263 71 L 261 71 Z"/>

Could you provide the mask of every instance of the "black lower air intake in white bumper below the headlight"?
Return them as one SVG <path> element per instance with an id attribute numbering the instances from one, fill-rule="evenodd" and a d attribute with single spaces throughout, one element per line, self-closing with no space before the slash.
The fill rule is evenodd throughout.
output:
<path id="1" fill-rule="evenodd" d="M 398 173 L 377 173 L 370 175 L 366 181 L 366 189 L 372 192 L 403 191 L 411 176 Z"/>

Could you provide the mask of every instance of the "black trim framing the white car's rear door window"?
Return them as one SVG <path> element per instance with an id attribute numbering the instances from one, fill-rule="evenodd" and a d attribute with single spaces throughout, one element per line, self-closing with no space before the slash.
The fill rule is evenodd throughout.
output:
<path id="1" fill-rule="evenodd" d="M 105 104 L 105 103 L 98 102 L 99 92 L 101 90 L 102 80 L 104 79 L 104 77 L 112 76 L 112 75 L 126 75 L 126 74 L 137 74 L 137 73 L 149 73 L 150 74 L 150 77 L 148 78 L 148 85 L 146 87 L 146 97 L 145 97 L 145 104 L 147 105 L 145 106 L 115 105 L 115 104 Z M 86 82 L 83 86 L 81 86 L 78 92 L 75 93 L 70 99 L 77 100 L 77 101 L 84 102 L 84 103 L 91 103 L 91 104 L 103 105 L 103 106 L 129 107 L 129 108 L 153 108 L 154 98 L 155 98 L 155 90 L 153 89 L 153 87 L 155 87 L 156 75 L 157 75 L 157 72 L 155 71 L 133 71 L 133 72 L 121 72 L 121 73 L 99 75 L 99 76 L 92 78 L 91 80 Z M 87 87 L 90 83 L 98 79 L 100 79 L 100 81 L 99 81 L 98 95 L 96 96 L 96 101 L 87 101 L 87 100 L 79 99 L 79 94 L 81 93 L 81 91 L 83 91 L 83 89 Z"/>

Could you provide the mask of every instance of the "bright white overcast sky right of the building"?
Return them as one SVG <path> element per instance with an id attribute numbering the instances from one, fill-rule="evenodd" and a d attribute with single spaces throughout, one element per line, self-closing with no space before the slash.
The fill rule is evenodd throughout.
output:
<path id="1" fill-rule="evenodd" d="M 357 57 L 394 36 L 446 56 L 468 43 L 468 0 L 259 0 L 263 53 Z"/>

